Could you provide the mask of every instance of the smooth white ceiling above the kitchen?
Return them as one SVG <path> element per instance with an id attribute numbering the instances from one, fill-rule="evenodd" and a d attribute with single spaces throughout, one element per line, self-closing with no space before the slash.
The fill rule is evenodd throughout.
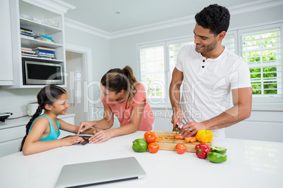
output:
<path id="1" fill-rule="evenodd" d="M 228 9 L 258 0 L 61 0 L 76 8 L 65 18 L 81 22 L 104 32 L 120 32 L 192 16 L 210 4 Z"/>

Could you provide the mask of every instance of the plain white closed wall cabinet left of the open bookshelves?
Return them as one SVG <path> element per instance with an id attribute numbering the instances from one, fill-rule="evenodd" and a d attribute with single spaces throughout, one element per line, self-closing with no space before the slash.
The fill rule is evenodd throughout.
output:
<path id="1" fill-rule="evenodd" d="M 11 38 L 11 16 L 9 0 L 2 0 L 0 7 L 0 86 L 13 85 L 13 55 Z"/>

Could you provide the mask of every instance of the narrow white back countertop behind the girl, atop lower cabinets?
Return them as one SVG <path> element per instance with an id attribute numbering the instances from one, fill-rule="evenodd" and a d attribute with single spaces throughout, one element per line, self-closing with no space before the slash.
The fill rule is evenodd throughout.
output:
<path id="1" fill-rule="evenodd" d="M 58 119 L 72 117 L 72 116 L 75 116 L 75 114 L 59 115 Z M 4 122 L 0 122 L 0 130 L 4 128 L 12 128 L 16 126 L 26 125 L 31 118 L 32 116 L 23 116 L 15 119 L 6 119 Z"/>

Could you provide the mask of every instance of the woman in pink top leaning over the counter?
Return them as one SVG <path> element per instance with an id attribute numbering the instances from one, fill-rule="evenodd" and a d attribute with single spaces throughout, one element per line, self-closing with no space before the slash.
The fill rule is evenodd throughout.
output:
<path id="1" fill-rule="evenodd" d="M 135 79 L 130 67 L 109 70 L 101 79 L 101 90 L 104 118 L 100 121 L 81 122 L 77 134 L 92 127 L 104 129 L 89 138 L 89 143 L 93 144 L 137 130 L 152 130 L 154 117 L 146 101 L 144 86 Z M 113 114 L 118 117 L 120 128 L 109 129 L 113 126 Z"/>

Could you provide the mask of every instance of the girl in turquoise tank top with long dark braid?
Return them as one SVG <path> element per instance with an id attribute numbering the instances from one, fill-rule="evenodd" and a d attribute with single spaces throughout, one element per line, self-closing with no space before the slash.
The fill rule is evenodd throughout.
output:
<path id="1" fill-rule="evenodd" d="M 61 119 L 57 119 L 59 114 L 66 114 L 68 107 L 68 95 L 66 91 L 58 86 L 45 86 L 37 94 L 37 103 L 39 104 L 37 112 L 34 113 L 30 122 L 26 126 L 26 134 L 23 137 L 20 152 L 23 154 L 35 154 L 44 152 L 56 147 L 69 146 L 78 142 L 84 142 L 79 136 L 65 137 L 57 140 L 60 130 L 66 130 L 72 133 L 79 131 L 78 126 L 73 126 Z M 44 114 L 42 114 L 44 110 Z M 40 115 L 42 114 L 42 115 Z M 96 133 L 96 130 L 89 129 L 86 134 Z"/>

